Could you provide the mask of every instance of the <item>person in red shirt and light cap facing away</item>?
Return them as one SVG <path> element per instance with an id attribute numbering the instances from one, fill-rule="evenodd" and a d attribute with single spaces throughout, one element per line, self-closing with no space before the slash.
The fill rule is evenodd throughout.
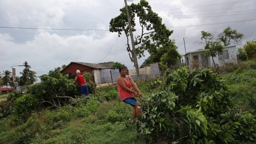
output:
<path id="1" fill-rule="evenodd" d="M 80 94 L 82 96 L 83 95 L 88 95 L 89 94 L 88 86 L 87 86 L 87 84 L 85 82 L 85 77 L 83 77 L 83 75 L 80 74 L 80 70 L 76 70 L 75 81 L 80 86 Z"/>

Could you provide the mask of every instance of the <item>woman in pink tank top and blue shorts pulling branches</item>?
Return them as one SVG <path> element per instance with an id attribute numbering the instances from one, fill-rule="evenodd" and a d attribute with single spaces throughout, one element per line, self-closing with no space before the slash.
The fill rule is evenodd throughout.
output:
<path id="1" fill-rule="evenodd" d="M 116 80 L 119 96 L 123 102 L 126 102 L 133 107 L 131 116 L 132 120 L 135 121 L 135 118 L 142 114 L 140 102 L 135 99 L 135 96 L 140 97 L 142 95 L 140 94 L 140 89 L 138 89 L 137 84 L 135 84 L 130 75 L 127 75 L 127 68 L 125 66 L 119 68 L 119 73 L 120 75 Z"/>

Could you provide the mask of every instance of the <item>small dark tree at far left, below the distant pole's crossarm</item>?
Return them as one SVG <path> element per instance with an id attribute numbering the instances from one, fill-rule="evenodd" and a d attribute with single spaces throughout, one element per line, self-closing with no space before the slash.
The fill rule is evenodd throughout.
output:
<path id="1" fill-rule="evenodd" d="M 29 70 L 27 68 L 23 69 L 23 72 L 20 72 L 20 86 L 25 86 L 27 84 L 34 84 L 37 81 L 36 72 Z"/>

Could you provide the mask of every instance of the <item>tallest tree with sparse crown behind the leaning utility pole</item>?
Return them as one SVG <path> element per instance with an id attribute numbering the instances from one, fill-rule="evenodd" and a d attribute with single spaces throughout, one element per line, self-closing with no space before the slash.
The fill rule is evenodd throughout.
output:
<path id="1" fill-rule="evenodd" d="M 162 64 L 176 64 L 181 55 L 177 52 L 177 47 L 174 44 L 174 41 L 169 39 L 173 30 L 168 30 L 168 28 L 162 24 L 162 19 L 157 13 L 152 11 L 151 6 L 145 0 L 141 0 L 138 4 L 131 4 L 128 6 L 128 10 L 131 18 L 132 31 L 140 33 L 135 36 L 134 42 L 137 57 L 141 58 L 145 56 L 144 52 L 147 50 L 150 53 L 150 60 L 152 62 L 161 62 L 161 57 L 164 57 L 162 60 L 166 60 L 166 55 L 170 55 L 170 53 L 174 52 L 171 54 L 172 57 L 169 58 L 171 61 L 169 63 L 162 62 Z M 135 63 L 133 50 L 129 44 L 130 32 L 126 9 L 121 8 L 120 11 L 121 14 L 119 14 L 119 16 L 111 19 L 109 23 L 109 31 L 117 32 L 119 36 L 122 32 L 125 32 L 127 40 L 126 50 L 129 53 L 131 62 Z M 138 22 L 135 21 L 136 18 L 138 18 Z M 139 23 L 140 28 L 135 29 L 137 23 Z M 164 55 L 165 53 L 166 55 Z"/>

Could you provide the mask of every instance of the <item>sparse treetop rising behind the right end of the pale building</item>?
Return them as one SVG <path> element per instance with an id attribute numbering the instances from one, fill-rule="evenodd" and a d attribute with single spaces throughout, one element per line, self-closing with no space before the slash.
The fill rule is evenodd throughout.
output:
<path id="1" fill-rule="evenodd" d="M 241 38 L 243 38 L 243 34 L 238 33 L 236 30 L 232 30 L 230 26 L 228 26 L 228 28 L 226 28 L 218 36 L 218 39 L 223 43 L 224 47 L 230 45 L 231 43 L 240 43 Z"/>

